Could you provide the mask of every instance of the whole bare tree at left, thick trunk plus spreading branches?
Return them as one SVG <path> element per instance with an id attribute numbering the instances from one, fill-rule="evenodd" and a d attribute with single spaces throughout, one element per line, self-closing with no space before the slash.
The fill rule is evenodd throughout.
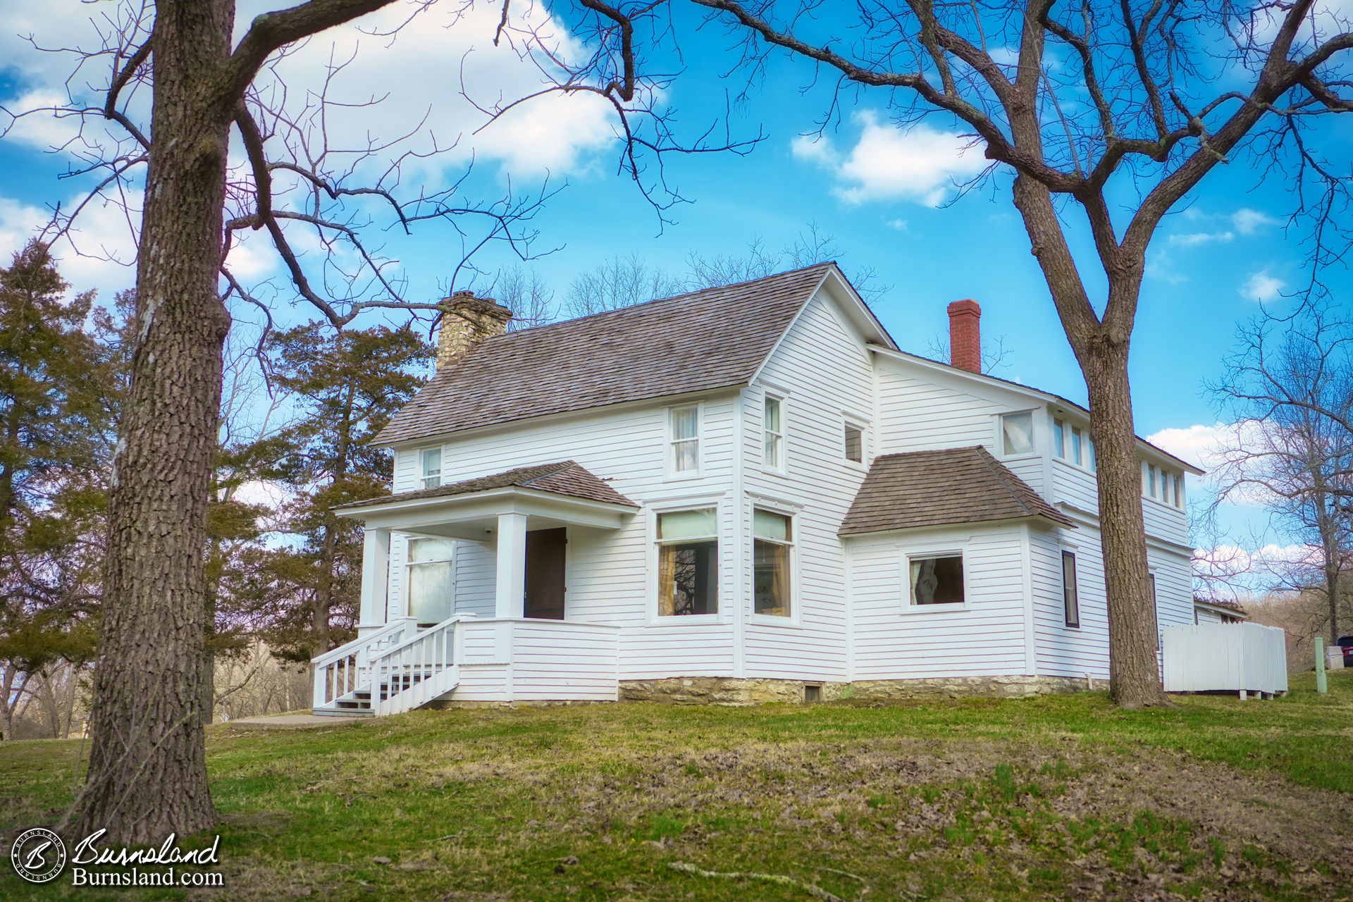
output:
<path id="1" fill-rule="evenodd" d="M 411 15 L 432 1 L 413 4 Z M 491 242 L 528 253 L 526 223 L 544 189 L 491 203 L 467 199 L 464 177 L 410 191 L 406 164 L 446 150 L 430 135 L 403 143 L 417 126 L 336 146 L 327 116 L 379 100 L 330 97 L 346 61 L 330 62 L 319 91 L 288 95 L 279 66 L 298 42 L 391 3 L 308 0 L 254 18 L 238 42 L 234 0 L 110 4 L 96 12 L 99 46 L 62 50 L 74 60 L 69 103 L 27 114 L 76 118 L 80 135 L 64 150 L 99 179 L 85 203 L 60 211 L 49 238 L 73 237 L 91 203 L 112 199 L 138 242 L 89 776 L 68 817 L 78 832 L 107 828 L 108 841 L 150 844 L 216 821 L 200 725 L 203 549 L 227 303 L 252 304 L 265 325 L 275 299 L 300 299 L 334 327 L 373 308 L 438 315 L 434 302 L 405 295 L 369 226 L 448 223 L 467 257 L 453 281 L 475 275 L 468 258 Z M 369 134 L 392 131 L 384 123 Z M 238 164 L 231 135 L 244 147 Z M 318 250 L 299 249 L 303 233 Z M 271 293 L 231 268 L 231 247 L 246 234 L 265 237 L 285 269 Z"/>

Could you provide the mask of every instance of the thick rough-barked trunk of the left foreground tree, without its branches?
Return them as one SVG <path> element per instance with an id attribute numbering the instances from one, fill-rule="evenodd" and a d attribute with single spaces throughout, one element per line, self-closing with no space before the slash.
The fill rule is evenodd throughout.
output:
<path id="1" fill-rule="evenodd" d="M 103 644 L 76 830 L 152 844 L 216 822 L 202 734 L 203 550 L 229 315 L 216 296 L 231 0 L 164 0 L 137 343 L 108 502 Z"/>

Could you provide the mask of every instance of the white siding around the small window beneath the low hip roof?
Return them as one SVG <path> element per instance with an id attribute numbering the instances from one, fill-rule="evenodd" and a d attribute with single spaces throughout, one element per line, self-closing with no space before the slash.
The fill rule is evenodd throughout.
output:
<path id="1" fill-rule="evenodd" d="M 851 602 L 855 679 L 1009 676 L 1024 660 L 1024 556 L 1019 529 L 855 538 Z M 967 610 L 904 607 L 908 554 L 963 550 Z"/>

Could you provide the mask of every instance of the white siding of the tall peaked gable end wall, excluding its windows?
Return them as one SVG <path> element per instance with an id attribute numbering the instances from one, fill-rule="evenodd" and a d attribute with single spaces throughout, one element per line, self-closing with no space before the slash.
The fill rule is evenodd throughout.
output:
<path id="1" fill-rule="evenodd" d="M 763 461 L 764 396 L 785 395 L 785 472 Z M 744 537 L 740 575 L 746 600 L 746 675 L 767 679 L 846 679 L 846 559 L 836 530 L 878 446 L 870 353 L 836 306 L 815 298 L 746 392 L 743 444 Z M 846 460 L 844 425 L 866 427 L 863 465 Z M 762 499 L 762 500 L 758 500 Z M 778 503 L 777 503 L 778 502 Z M 752 510 L 796 514 L 793 617 L 751 614 Z"/>

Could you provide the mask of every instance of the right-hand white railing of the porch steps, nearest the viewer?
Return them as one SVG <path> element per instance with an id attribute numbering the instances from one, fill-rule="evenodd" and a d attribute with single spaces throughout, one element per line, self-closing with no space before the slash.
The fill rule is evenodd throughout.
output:
<path id="1" fill-rule="evenodd" d="M 456 623 L 464 619 L 475 615 L 452 614 L 371 659 L 371 707 L 377 717 L 411 711 L 456 688 Z"/>

